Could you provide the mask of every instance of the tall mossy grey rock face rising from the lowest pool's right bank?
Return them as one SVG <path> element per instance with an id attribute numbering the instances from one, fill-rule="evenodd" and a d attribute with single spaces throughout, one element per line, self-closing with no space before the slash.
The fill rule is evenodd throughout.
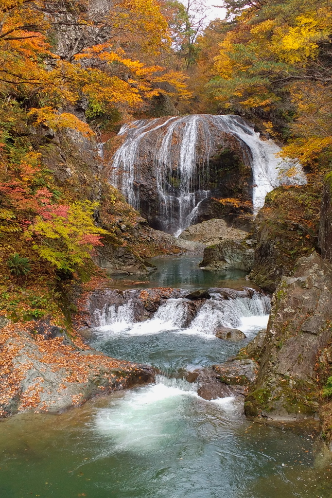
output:
<path id="1" fill-rule="evenodd" d="M 314 417 L 316 364 L 332 340 L 332 266 L 316 252 L 299 259 L 272 298 L 257 381 L 246 397 L 247 415 L 276 420 Z"/>

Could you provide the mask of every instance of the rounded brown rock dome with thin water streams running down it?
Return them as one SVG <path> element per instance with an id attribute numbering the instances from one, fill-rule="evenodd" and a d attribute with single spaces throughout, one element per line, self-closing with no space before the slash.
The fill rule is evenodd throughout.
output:
<path id="1" fill-rule="evenodd" d="M 209 115 L 128 124 L 120 131 L 127 141 L 113 156 L 110 182 L 152 228 L 171 234 L 188 226 L 187 216 L 208 197 L 240 198 L 252 212 L 249 147 L 227 129 L 221 117 Z"/>

